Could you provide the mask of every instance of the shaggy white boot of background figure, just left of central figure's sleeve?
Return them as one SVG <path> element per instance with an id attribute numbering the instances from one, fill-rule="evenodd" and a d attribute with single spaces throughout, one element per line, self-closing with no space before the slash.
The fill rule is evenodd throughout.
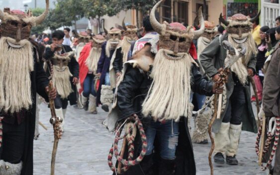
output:
<path id="1" fill-rule="evenodd" d="M 102 110 L 109 112 L 109 106 L 113 103 L 114 93 L 111 86 L 102 85 L 100 102 L 102 103 Z"/>

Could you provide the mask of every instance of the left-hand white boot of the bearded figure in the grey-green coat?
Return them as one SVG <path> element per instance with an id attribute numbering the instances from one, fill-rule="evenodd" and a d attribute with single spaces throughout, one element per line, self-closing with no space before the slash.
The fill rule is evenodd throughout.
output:
<path id="1" fill-rule="evenodd" d="M 230 144 L 229 141 L 229 125 L 230 123 L 223 123 L 221 124 L 220 130 L 218 133 L 215 134 L 214 140 L 215 140 L 215 149 L 214 149 L 214 155 L 217 153 L 222 153 L 225 155 L 226 148 Z"/>

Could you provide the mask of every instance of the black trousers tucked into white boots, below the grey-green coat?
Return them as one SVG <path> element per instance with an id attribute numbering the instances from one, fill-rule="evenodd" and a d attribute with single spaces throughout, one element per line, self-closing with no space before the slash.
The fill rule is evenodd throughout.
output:
<path id="1" fill-rule="evenodd" d="M 234 86 L 233 92 L 229 98 L 226 114 L 223 118 L 224 123 L 239 125 L 242 123 L 242 115 L 245 108 L 245 92 L 244 87 L 239 84 Z"/>

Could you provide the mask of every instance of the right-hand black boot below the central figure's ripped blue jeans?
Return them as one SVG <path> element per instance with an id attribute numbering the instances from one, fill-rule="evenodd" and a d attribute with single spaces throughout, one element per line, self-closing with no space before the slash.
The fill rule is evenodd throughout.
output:
<path id="1" fill-rule="evenodd" d="M 159 166 L 159 175 L 175 175 L 175 161 L 161 159 Z"/>

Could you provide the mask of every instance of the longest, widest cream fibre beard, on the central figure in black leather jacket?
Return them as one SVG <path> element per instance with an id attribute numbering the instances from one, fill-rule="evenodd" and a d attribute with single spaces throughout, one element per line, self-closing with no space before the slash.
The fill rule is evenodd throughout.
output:
<path id="1" fill-rule="evenodd" d="M 169 52 L 169 51 L 167 51 Z M 164 49 L 158 51 L 151 76 L 153 82 L 143 102 L 143 115 L 151 115 L 154 120 L 187 117 L 191 61 L 189 54 L 184 53 L 177 60 L 168 58 Z"/>

